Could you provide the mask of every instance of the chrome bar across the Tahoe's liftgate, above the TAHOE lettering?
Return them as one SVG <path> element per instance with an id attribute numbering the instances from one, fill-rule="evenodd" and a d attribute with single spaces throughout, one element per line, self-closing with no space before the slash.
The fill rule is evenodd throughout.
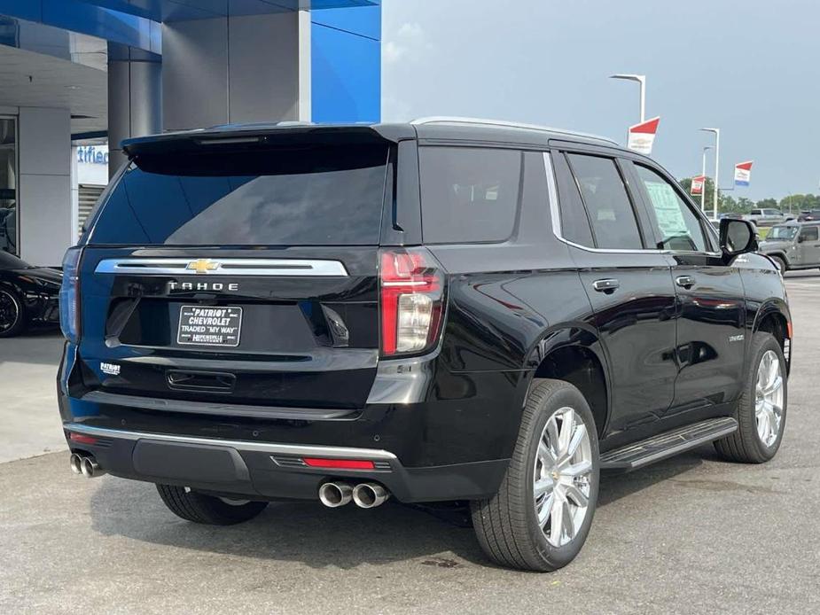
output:
<path id="1" fill-rule="evenodd" d="M 215 269 L 189 269 L 196 261 L 208 261 Z M 348 269 L 340 261 L 317 259 L 105 259 L 99 261 L 94 271 L 141 276 L 348 276 Z"/>

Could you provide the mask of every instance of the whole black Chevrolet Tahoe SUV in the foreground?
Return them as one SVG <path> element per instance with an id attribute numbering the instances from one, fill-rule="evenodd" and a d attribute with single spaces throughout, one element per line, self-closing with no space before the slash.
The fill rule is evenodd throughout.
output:
<path id="1" fill-rule="evenodd" d="M 206 524 L 469 502 L 488 557 L 551 571 L 602 472 L 777 452 L 782 277 L 749 222 L 716 233 L 644 156 L 457 118 L 124 149 L 64 263 L 76 473 L 150 481 Z"/>

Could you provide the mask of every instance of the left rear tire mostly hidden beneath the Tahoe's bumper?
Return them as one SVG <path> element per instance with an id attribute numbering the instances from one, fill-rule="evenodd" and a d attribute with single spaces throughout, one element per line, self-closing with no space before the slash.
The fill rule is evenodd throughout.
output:
<path id="1" fill-rule="evenodd" d="M 268 502 L 229 503 L 188 487 L 157 485 L 157 491 L 168 510 L 177 517 L 205 525 L 236 525 L 256 517 L 268 506 Z"/>

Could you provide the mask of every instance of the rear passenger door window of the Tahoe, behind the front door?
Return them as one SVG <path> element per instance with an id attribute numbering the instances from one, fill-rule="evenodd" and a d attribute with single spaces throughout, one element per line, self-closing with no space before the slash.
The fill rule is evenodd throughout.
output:
<path id="1" fill-rule="evenodd" d="M 641 233 L 615 161 L 567 154 L 599 248 L 640 250 Z"/>

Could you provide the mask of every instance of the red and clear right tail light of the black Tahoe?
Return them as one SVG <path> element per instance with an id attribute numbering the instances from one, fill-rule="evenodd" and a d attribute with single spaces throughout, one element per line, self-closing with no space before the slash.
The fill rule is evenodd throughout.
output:
<path id="1" fill-rule="evenodd" d="M 424 248 L 383 250 L 380 255 L 381 353 L 418 354 L 441 332 L 444 275 Z"/>

